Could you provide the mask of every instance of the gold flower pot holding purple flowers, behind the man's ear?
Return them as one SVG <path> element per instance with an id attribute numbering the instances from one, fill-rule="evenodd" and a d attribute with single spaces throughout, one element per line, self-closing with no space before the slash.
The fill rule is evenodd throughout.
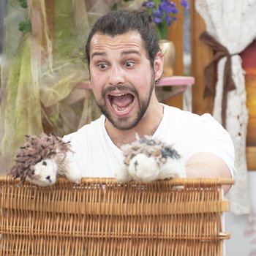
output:
<path id="1" fill-rule="evenodd" d="M 170 77 L 173 75 L 176 69 L 176 50 L 173 42 L 161 39 L 159 41 L 159 46 L 164 54 L 165 62 L 164 62 L 164 70 L 162 73 L 162 77 Z"/>

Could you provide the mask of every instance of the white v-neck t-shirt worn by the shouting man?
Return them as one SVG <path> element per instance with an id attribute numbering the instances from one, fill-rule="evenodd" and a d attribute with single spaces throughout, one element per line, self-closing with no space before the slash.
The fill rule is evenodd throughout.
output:
<path id="1" fill-rule="evenodd" d="M 233 142 L 226 130 L 208 113 L 198 116 L 164 105 L 164 116 L 153 138 L 173 145 L 185 162 L 197 152 L 216 154 L 224 160 L 233 176 Z M 113 171 L 123 165 L 122 151 L 105 129 L 105 116 L 64 136 L 64 140 L 70 140 L 84 177 L 113 177 Z"/>

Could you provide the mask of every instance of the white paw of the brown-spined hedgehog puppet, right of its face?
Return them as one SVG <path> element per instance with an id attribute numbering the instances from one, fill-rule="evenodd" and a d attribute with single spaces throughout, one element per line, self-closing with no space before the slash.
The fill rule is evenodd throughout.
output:
<path id="1" fill-rule="evenodd" d="M 59 174 L 65 176 L 69 181 L 79 184 L 82 172 L 75 162 L 74 153 L 68 152 L 62 162 L 59 162 Z"/>

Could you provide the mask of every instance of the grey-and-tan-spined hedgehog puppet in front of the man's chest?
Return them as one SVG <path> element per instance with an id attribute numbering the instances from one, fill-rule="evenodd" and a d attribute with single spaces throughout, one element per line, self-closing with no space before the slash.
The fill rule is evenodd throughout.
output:
<path id="1" fill-rule="evenodd" d="M 165 178 L 186 177 L 184 160 L 173 146 L 153 139 L 139 138 L 121 147 L 124 165 L 115 170 L 119 182 L 154 181 Z"/>

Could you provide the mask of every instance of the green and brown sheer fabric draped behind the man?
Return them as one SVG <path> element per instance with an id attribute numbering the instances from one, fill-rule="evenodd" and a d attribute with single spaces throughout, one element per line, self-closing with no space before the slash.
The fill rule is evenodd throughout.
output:
<path id="1" fill-rule="evenodd" d="M 24 1 L 23 1 L 24 2 Z M 7 1 L 1 67 L 1 171 L 13 163 L 25 135 L 63 136 L 99 117 L 83 51 L 92 24 L 118 2 L 136 9 L 142 1 Z M 19 31 L 30 20 L 31 31 Z"/>

